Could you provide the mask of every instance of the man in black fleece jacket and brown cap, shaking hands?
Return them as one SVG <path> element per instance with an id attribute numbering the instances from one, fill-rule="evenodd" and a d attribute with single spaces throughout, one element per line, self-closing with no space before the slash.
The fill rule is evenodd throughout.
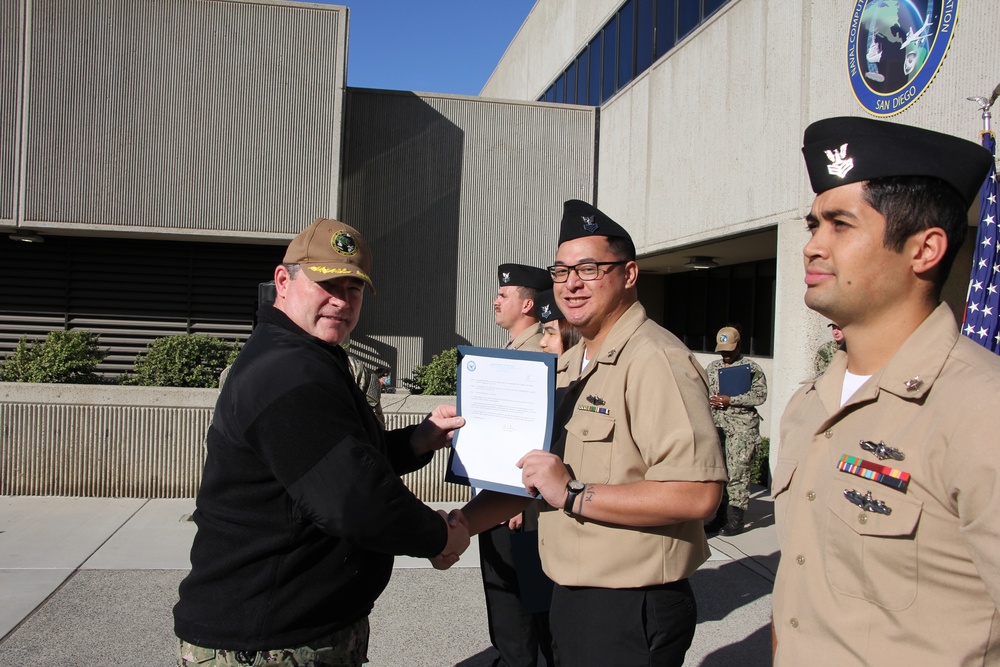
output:
<path id="1" fill-rule="evenodd" d="M 258 311 L 208 430 L 192 570 L 174 607 L 179 665 L 360 665 L 393 555 L 469 544 L 399 479 L 462 418 L 439 406 L 385 431 L 339 345 L 365 285 L 374 293 L 370 272 L 361 235 L 326 219 L 275 269 L 274 306 Z"/>

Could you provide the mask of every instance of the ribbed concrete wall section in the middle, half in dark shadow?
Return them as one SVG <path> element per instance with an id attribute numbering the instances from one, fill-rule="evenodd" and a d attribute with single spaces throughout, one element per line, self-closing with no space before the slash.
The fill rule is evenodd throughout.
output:
<path id="1" fill-rule="evenodd" d="M 498 347 L 496 267 L 548 266 L 562 205 L 594 189 L 589 107 L 348 89 L 343 220 L 378 293 L 352 350 L 394 376 L 457 344 Z"/>

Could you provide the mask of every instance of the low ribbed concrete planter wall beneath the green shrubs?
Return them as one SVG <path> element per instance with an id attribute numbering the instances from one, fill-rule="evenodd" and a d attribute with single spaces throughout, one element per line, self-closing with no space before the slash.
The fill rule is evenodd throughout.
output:
<path id="1" fill-rule="evenodd" d="M 189 498 L 201 482 L 218 391 L 0 382 L 0 495 Z M 419 423 L 451 396 L 386 394 L 387 427 Z M 459 502 L 447 452 L 403 477 L 426 502 Z"/>

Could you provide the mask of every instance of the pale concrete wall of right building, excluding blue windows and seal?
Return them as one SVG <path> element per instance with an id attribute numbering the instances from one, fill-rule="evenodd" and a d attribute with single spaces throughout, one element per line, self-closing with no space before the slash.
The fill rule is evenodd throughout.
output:
<path id="1" fill-rule="evenodd" d="M 620 5 L 539 0 L 483 94 L 535 99 Z M 799 149 L 812 121 L 865 115 L 844 64 L 852 7 L 731 0 L 601 108 L 597 201 L 629 228 L 640 257 L 703 254 L 700 246 L 777 228 L 776 247 L 760 256 L 777 261 L 762 411 L 775 444 L 781 411 L 829 336 L 802 302 L 802 216 L 813 196 Z M 937 77 L 893 120 L 977 140 L 979 113 L 965 98 L 997 83 L 1000 3 L 966 0 L 959 12 Z M 945 290 L 953 308 L 964 300 L 970 261 L 967 244 Z"/>

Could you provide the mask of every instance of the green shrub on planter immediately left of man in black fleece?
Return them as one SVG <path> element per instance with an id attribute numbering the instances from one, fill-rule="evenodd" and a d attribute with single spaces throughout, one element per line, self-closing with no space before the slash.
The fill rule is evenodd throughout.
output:
<path id="1" fill-rule="evenodd" d="M 135 375 L 122 384 L 211 389 L 239 350 L 237 343 L 203 334 L 157 338 L 135 360 Z"/>

